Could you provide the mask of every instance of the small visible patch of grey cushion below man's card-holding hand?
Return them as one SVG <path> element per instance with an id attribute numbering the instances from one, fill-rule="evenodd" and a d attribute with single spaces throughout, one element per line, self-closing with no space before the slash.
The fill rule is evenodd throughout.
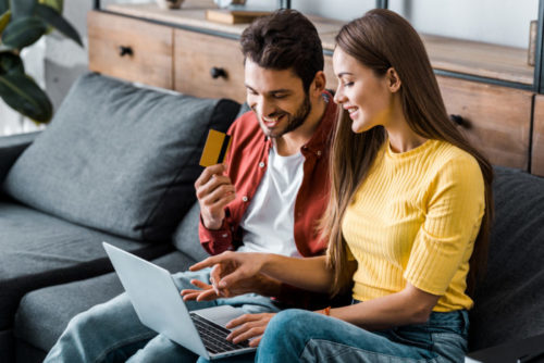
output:
<path id="1" fill-rule="evenodd" d="M 200 245 L 200 238 L 198 237 L 200 205 L 196 201 L 185 214 L 182 223 L 180 223 L 173 238 L 175 248 L 195 261 L 201 261 L 209 256 L 202 245 Z"/>

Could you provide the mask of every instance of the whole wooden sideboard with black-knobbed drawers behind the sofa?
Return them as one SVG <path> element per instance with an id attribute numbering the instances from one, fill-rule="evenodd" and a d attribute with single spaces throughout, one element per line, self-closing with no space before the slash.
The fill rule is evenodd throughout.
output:
<path id="1" fill-rule="evenodd" d="M 88 16 L 89 67 L 111 76 L 197 97 L 244 102 L 238 38 L 246 24 L 206 21 L 211 0 L 182 11 L 153 3 L 111 4 Z M 325 50 L 326 88 L 335 90 L 334 37 L 341 22 L 309 16 Z M 446 110 L 493 164 L 544 175 L 544 96 L 535 100 L 532 70 L 519 49 L 422 36 Z M 460 51 L 458 51 L 460 50 Z M 500 84 L 500 85 L 497 85 Z"/>

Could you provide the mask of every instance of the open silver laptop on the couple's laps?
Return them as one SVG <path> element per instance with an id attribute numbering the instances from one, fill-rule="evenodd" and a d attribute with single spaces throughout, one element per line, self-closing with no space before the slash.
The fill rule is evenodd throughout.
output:
<path id="1" fill-rule="evenodd" d="M 189 312 L 172 275 L 164 268 L 102 242 L 140 322 L 191 352 L 215 360 L 252 352 L 248 341 L 226 340 L 231 320 L 243 315 L 230 305 Z"/>

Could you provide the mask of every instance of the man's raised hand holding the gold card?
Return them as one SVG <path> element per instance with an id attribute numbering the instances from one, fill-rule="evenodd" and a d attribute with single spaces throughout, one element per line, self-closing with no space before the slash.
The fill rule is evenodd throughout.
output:
<path id="1" fill-rule="evenodd" d="M 231 178 L 224 175 L 226 166 L 208 166 L 195 182 L 202 222 L 208 229 L 219 229 L 225 218 L 225 206 L 236 198 Z"/>

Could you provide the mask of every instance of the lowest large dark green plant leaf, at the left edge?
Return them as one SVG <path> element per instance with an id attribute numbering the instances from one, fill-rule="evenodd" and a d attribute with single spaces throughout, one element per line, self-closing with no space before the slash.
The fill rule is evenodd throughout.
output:
<path id="1" fill-rule="evenodd" d="M 0 97 L 13 110 L 36 122 L 47 123 L 53 114 L 49 97 L 25 74 L 0 75 Z"/>

